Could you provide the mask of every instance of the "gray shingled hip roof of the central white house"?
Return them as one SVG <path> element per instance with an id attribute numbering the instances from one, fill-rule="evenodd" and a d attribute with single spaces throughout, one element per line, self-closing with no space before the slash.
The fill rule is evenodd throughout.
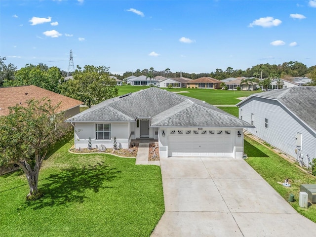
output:
<path id="1" fill-rule="evenodd" d="M 137 118 L 151 118 L 151 126 L 155 127 L 252 127 L 204 101 L 156 87 L 103 101 L 66 121 L 135 121 Z"/>

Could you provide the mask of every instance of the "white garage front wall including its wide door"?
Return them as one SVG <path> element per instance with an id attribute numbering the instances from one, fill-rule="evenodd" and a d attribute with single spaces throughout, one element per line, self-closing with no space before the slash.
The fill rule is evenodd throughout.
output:
<path id="1" fill-rule="evenodd" d="M 182 131 L 183 134 L 179 134 Z M 186 131 L 191 131 L 187 134 Z M 175 134 L 171 134 L 175 131 Z M 194 134 L 197 131 L 198 134 Z M 202 134 L 206 131 L 206 134 Z M 210 134 L 213 131 L 214 134 Z M 222 131 L 222 134 L 217 134 Z M 226 134 L 229 131 L 230 134 Z M 237 131 L 241 137 L 237 136 Z M 165 136 L 162 136 L 162 132 Z M 159 155 L 160 157 L 233 157 L 243 156 L 243 136 L 240 128 L 213 128 L 202 127 L 175 127 L 159 128 Z"/>

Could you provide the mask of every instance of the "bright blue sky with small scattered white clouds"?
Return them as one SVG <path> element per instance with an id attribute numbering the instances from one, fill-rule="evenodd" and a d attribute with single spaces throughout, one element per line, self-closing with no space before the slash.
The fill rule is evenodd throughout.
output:
<path id="1" fill-rule="evenodd" d="M 316 65 L 316 0 L 1 0 L 0 56 L 111 73 Z"/>

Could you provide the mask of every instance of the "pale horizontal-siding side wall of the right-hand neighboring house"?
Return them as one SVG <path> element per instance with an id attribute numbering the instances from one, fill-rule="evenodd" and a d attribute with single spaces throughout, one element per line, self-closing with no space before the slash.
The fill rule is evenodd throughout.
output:
<path id="1" fill-rule="evenodd" d="M 301 133 L 303 145 L 300 153 L 304 155 L 304 163 L 307 162 L 306 155 L 311 159 L 316 157 L 315 133 L 278 101 L 251 98 L 239 106 L 239 115 L 240 110 L 242 110 L 242 119 L 249 123 L 253 114 L 255 128 L 249 128 L 249 132 L 294 158 L 297 158 L 295 136 Z M 265 118 L 268 119 L 268 128 L 265 128 Z"/>

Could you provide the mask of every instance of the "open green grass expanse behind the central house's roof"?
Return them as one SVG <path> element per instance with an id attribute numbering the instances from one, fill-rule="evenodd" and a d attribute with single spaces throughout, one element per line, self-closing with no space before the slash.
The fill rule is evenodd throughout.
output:
<path id="1" fill-rule="evenodd" d="M 149 88 L 149 86 L 133 86 L 122 85 L 118 86 L 118 95 L 127 94 L 129 92 L 139 91 L 141 89 Z M 189 89 L 189 88 L 162 88 L 171 92 L 187 91 L 180 93 L 182 95 L 193 97 L 199 100 L 204 100 L 211 105 L 236 105 L 240 102 L 240 97 L 247 97 L 253 93 L 261 92 L 255 91 L 237 91 L 237 90 L 214 90 L 214 89 Z M 189 93 L 188 93 L 189 92 Z"/>

